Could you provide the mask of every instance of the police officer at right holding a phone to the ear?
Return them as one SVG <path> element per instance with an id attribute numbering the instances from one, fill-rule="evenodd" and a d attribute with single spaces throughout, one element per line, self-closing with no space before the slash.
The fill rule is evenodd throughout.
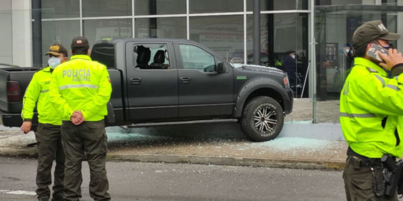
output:
<path id="1" fill-rule="evenodd" d="M 354 32 L 354 67 L 340 97 L 340 123 L 349 144 L 343 173 L 347 200 L 398 200 L 382 194 L 380 158 L 403 153 L 403 57 L 389 41 L 400 35 L 381 21 L 367 22 Z M 366 53 L 371 44 L 388 49 L 384 62 Z M 391 71 L 393 77 L 387 77 Z"/>

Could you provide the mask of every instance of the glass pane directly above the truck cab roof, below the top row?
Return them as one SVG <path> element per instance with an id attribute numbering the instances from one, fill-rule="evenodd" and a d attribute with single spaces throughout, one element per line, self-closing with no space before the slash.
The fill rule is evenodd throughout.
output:
<path id="1" fill-rule="evenodd" d="M 139 18 L 136 19 L 136 38 L 182 38 L 186 39 L 186 18 Z"/>

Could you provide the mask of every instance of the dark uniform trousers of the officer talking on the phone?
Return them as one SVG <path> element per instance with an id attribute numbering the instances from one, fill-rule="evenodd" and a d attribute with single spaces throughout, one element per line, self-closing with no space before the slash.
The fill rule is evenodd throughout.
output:
<path id="1" fill-rule="evenodd" d="M 374 175 L 377 180 L 378 192 L 383 181 L 382 168 L 379 165 L 373 165 L 374 174 L 367 162 L 355 156 L 348 156 L 346 166 L 343 172 L 346 196 L 348 201 L 398 201 L 397 192 L 394 197 L 378 197 L 373 190 Z"/>

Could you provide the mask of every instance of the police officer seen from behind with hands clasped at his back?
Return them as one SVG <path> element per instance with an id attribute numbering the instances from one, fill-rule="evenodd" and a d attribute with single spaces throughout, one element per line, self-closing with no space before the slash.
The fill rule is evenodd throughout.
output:
<path id="1" fill-rule="evenodd" d="M 87 38 L 74 38 L 71 47 L 73 56 L 53 71 L 49 91 L 50 101 L 62 117 L 65 200 L 81 197 L 84 153 L 90 166 L 90 196 L 94 200 L 110 200 L 104 125 L 106 104 L 112 92 L 109 73 L 105 65 L 89 57 Z"/>

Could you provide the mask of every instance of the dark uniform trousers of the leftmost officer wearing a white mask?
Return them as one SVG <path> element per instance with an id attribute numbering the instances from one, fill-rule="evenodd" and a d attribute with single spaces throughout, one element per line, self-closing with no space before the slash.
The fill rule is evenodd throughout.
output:
<path id="1" fill-rule="evenodd" d="M 50 198 L 51 170 L 53 160 L 56 160 L 52 200 L 62 200 L 64 154 L 61 148 L 60 126 L 39 124 L 35 138 L 38 142 L 38 168 L 36 173 L 36 185 L 38 186 L 36 193 L 38 198 Z"/>

